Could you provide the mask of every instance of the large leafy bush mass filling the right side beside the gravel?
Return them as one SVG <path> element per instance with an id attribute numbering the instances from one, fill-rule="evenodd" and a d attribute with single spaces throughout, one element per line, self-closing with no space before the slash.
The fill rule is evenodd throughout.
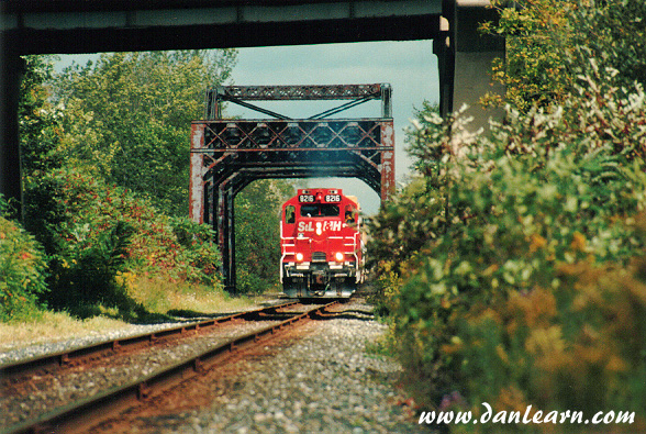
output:
<path id="1" fill-rule="evenodd" d="M 410 142 L 422 178 L 375 220 L 371 253 L 397 264 L 383 300 L 427 408 L 457 390 L 475 410 L 621 409 L 646 426 L 646 99 L 587 62 L 563 104 L 509 107 L 490 138 L 430 113 Z M 435 214 L 406 199 L 422 197 Z M 416 218 L 425 236 L 400 225 Z"/>

